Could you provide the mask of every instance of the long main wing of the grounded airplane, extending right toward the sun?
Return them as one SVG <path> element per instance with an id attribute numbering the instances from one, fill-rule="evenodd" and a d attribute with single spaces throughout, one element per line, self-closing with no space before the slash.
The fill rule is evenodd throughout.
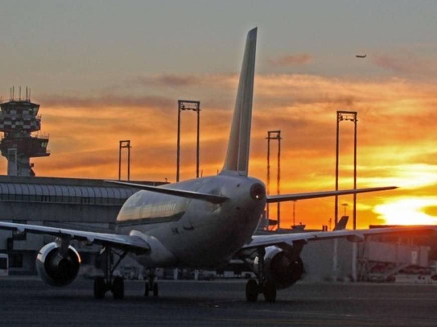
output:
<path id="1" fill-rule="evenodd" d="M 372 229 L 356 229 L 356 230 L 336 230 L 332 232 L 307 232 L 307 233 L 287 233 L 274 235 L 254 235 L 252 241 L 244 245 L 241 250 L 251 249 L 256 247 L 265 247 L 270 245 L 278 245 L 281 243 L 292 244 L 296 241 L 317 241 L 333 238 L 346 238 L 350 241 L 363 241 L 368 236 L 383 235 L 383 234 L 405 234 L 405 233 L 423 233 L 433 234 L 437 232 L 436 226 L 405 226 L 405 227 L 384 227 Z M 241 251 L 240 250 L 240 251 Z"/>

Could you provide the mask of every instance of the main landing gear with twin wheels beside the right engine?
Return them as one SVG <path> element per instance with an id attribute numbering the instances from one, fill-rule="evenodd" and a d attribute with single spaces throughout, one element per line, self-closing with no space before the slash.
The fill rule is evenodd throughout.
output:
<path id="1" fill-rule="evenodd" d="M 276 286 L 272 280 L 265 279 L 264 276 L 264 255 L 265 249 L 258 248 L 258 271 L 255 271 L 256 279 L 250 278 L 246 284 L 246 300 L 255 302 L 258 295 L 262 293 L 267 302 L 276 300 Z"/>

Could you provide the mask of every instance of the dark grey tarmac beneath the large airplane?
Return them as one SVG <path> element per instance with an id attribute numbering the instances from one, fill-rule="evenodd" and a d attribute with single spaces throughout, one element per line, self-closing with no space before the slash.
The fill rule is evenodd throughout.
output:
<path id="1" fill-rule="evenodd" d="M 245 300 L 245 280 L 159 281 L 144 297 L 143 281 L 125 281 L 125 297 L 92 295 L 92 280 L 51 288 L 37 278 L 0 278 L 0 325 L 147 326 L 437 326 L 437 286 L 429 284 L 297 283 Z"/>

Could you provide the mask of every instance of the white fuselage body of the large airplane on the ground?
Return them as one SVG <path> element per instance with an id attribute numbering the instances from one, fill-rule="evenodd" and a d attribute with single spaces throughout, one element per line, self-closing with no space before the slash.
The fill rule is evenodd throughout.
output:
<path id="1" fill-rule="evenodd" d="M 222 195 L 220 204 L 149 191 L 129 197 L 117 217 L 118 232 L 143 238 L 152 250 L 136 255 L 149 267 L 219 267 L 249 242 L 265 206 L 250 196 L 251 177 L 227 172 L 162 187 Z M 265 188 L 264 188 L 265 189 Z"/>

